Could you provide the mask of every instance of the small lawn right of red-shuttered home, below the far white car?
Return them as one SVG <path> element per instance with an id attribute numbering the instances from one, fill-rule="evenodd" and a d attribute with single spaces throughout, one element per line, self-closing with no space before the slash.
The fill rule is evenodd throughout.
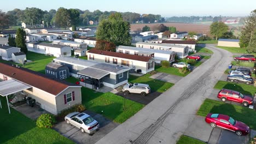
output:
<path id="1" fill-rule="evenodd" d="M 178 68 L 174 68 L 174 67 L 163 68 L 161 65 L 155 65 L 155 71 L 158 71 L 160 73 L 171 74 L 171 75 L 178 75 L 178 76 L 186 76 L 190 73 L 189 71 L 188 73 L 182 74 L 182 73 L 179 73 Z"/>

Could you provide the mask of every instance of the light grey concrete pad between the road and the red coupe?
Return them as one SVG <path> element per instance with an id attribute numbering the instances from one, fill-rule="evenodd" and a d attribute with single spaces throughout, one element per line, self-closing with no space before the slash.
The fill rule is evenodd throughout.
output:
<path id="1" fill-rule="evenodd" d="M 211 136 L 212 129 L 210 124 L 205 122 L 205 117 L 196 116 L 185 130 L 184 135 L 207 142 Z"/>

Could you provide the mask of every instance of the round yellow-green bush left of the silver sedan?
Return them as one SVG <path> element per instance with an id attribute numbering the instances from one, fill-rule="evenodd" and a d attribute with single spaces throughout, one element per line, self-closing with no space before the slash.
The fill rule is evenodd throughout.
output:
<path id="1" fill-rule="evenodd" d="M 56 122 L 54 115 L 44 113 L 37 118 L 37 127 L 39 128 L 52 128 Z"/>

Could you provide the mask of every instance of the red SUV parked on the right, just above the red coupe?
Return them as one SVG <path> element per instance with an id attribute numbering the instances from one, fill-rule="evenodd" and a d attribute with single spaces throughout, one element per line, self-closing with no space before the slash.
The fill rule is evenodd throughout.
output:
<path id="1" fill-rule="evenodd" d="M 222 101 L 230 100 L 237 103 L 243 104 L 243 106 L 248 106 L 253 103 L 253 98 L 250 95 L 244 95 L 240 92 L 232 91 L 229 89 L 222 89 L 219 91 L 217 97 Z"/>

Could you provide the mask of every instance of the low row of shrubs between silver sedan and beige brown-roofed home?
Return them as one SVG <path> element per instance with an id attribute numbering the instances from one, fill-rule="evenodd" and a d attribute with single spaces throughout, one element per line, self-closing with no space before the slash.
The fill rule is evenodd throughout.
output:
<path id="1" fill-rule="evenodd" d="M 85 106 L 82 104 L 77 104 L 72 107 L 69 107 L 68 109 L 62 110 L 56 117 L 57 122 L 61 122 L 64 120 L 65 116 L 67 116 L 71 112 L 82 112 L 85 111 Z"/>

